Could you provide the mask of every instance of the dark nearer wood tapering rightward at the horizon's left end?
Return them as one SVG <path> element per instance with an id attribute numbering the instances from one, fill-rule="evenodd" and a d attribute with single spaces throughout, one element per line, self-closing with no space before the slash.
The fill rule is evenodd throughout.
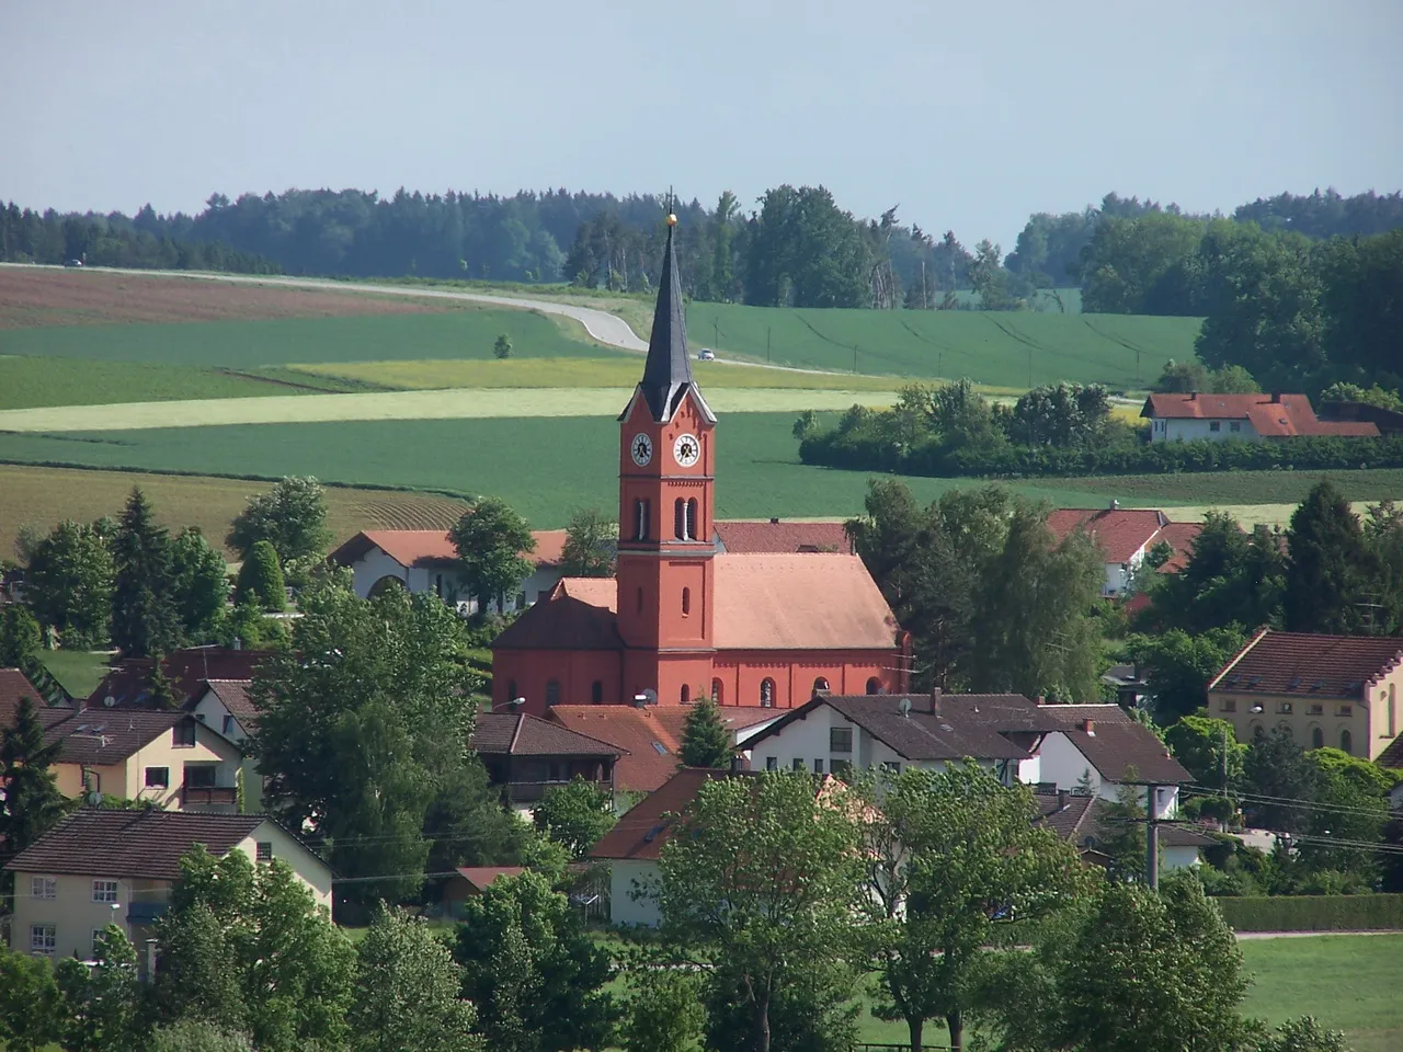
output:
<path id="1" fill-rule="evenodd" d="M 56 265 L 76 259 L 88 267 L 282 272 L 278 264 L 257 252 L 167 231 L 159 223 L 146 222 L 149 212 L 143 209 L 135 220 L 121 212 L 60 216 L 53 209 L 21 210 L 10 202 L 0 208 L 0 261 Z"/>

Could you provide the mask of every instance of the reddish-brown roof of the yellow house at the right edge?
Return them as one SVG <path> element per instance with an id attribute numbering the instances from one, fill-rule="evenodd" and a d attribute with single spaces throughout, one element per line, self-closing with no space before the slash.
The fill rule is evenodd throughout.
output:
<path id="1" fill-rule="evenodd" d="M 1237 694 L 1364 696 L 1364 686 L 1403 659 L 1403 640 L 1315 635 L 1263 628 L 1208 682 Z"/>

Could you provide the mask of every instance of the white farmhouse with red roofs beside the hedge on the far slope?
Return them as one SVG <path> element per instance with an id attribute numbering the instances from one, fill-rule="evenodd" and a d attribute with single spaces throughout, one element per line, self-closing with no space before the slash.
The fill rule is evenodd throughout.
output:
<path id="1" fill-rule="evenodd" d="M 1378 438 L 1371 421 L 1323 421 L 1303 394 L 1152 394 L 1141 417 L 1150 442 L 1258 442 L 1295 436 Z"/>

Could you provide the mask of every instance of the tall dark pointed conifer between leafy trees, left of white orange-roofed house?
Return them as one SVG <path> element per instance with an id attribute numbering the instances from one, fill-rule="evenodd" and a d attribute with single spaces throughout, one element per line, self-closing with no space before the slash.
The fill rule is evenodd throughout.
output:
<path id="1" fill-rule="evenodd" d="M 133 488 L 112 540 L 112 642 L 128 658 L 168 651 L 180 642 L 171 539 L 156 525 L 152 502 Z"/>

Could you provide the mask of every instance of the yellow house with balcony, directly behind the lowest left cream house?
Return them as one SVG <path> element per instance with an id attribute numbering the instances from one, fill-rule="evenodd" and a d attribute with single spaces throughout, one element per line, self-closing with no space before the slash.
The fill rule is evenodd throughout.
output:
<path id="1" fill-rule="evenodd" d="M 46 711 L 48 718 L 53 715 L 53 710 Z M 45 738 L 62 742 L 53 770 L 59 790 L 69 797 L 109 793 L 166 809 L 240 809 L 243 753 L 192 713 L 69 710 L 49 724 Z"/>

